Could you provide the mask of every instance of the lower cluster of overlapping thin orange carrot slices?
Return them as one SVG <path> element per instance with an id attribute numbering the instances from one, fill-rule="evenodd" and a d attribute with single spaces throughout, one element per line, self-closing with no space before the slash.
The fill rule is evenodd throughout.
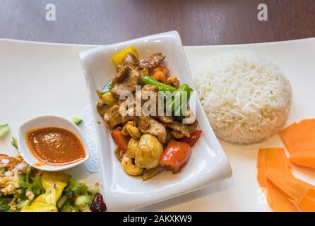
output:
<path id="1" fill-rule="evenodd" d="M 315 211 L 315 186 L 293 176 L 283 148 L 259 149 L 257 179 L 274 211 Z"/>

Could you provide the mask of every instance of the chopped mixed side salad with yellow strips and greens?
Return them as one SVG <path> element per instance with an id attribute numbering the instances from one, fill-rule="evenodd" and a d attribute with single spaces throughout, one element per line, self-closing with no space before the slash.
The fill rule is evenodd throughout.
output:
<path id="1" fill-rule="evenodd" d="M 105 212 L 99 184 L 88 186 L 63 172 L 44 172 L 22 157 L 0 154 L 0 211 Z"/>

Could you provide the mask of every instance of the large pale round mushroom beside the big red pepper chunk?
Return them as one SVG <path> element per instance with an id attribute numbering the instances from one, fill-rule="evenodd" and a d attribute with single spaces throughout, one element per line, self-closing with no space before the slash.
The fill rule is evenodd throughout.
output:
<path id="1" fill-rule="evenodd" d="M 163 145 L 156 136 L 143 134 L 139 140 L 136 152 L 136 165 L 145 169 L 152 169 L 159 165 L 163 153 Z"/>

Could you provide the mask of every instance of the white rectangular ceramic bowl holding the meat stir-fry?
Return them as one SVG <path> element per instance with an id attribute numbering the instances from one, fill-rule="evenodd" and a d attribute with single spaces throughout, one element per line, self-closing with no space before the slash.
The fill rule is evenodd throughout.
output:
<path id="1" fill-rule="evenodd" d="M 116 145 L 95 106 L 98 102 L 96 90 L 102 89 L 103 85 L 116 73 L 111 56 L 131 44 L 136 47 L 142 58 L 155 52 L 162 52 L 166 56 L 165 61 L 170 73 L 176 75 L 181 83 L 194 86 L 177 31 L 80 52 L 93 117 L 95 121 L 101 122 L 97 124 L 97 139 L 100 147 L 105 202 L 109 211 L 124 211 L 147 206 L 196 191 L 232 175 L 230 163 L 198 100 L 196 101 L 196 118 L 199 128 L 203 130 L 203 135 L 192 148 L 191 157 L 181 172 L 177 174 L 162 172 L 145 182 L 141 180 L 141 177 L 131 177 L 124 172 L 114 155 Z"/>

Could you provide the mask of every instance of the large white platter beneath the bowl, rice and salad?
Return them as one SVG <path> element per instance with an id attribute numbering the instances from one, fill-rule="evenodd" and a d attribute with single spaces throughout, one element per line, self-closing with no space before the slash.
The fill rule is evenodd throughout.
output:
<path id="1" fill-rule="evenodd" d="M 71 119 L 88 105 L 78 52 L 95 46 L 53 44 L 0 39 L 0 124 L 10 124 L 11 133 L 0 140 L 0 153 L 16 155 L 11 136 L 18 127 L 39 114 L 59 114 Z M 315 38 L 287 42 L 227 46 L 184 47 L 191 74 L 208 57 L 232 49 L 249 49 L 280 66 L 293 89 L 293 106 L 287 125 L 314 117 Z M 104 82 L 104 81 L 102 81 Z M 40 95 L 38 95 L 40 94 Z M 18 104 L 17 104 L 18 102 Z M 184 196 L 137 210 L 144 211 L 268 211 L 256 181 L 258 148 L 284 147 L 278 136 L 264 143 L 238 146 L 220 141 L 233 169 L 230 179 Z M 315 184 L 315 173 L 294 168 L 297 177 Z M 82 165 L 69 171 L 77 179 L 94 183 L 100 175 L 90 174 Z M 144 197 L 145 198 L 145 197 Z"/>

